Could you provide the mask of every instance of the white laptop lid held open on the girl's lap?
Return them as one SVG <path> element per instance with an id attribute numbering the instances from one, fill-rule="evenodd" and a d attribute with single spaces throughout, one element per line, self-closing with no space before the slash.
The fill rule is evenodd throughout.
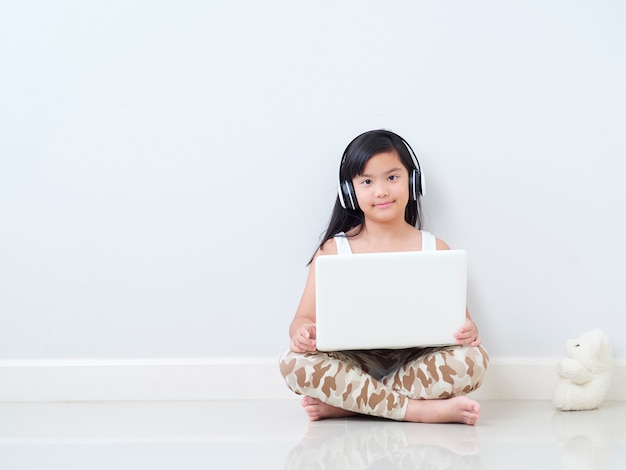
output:
<path id="1" fill-rule="evenodd" d="M 315 276 L 320 351 L 455 344 L 465 323 L 464 250 L 319 256 Z"/>

